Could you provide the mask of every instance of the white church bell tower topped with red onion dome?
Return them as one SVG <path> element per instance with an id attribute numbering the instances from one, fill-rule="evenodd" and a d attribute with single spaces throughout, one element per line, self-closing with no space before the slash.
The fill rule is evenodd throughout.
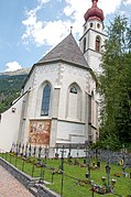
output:
<path id="1" fill-rule="evenodd" d="M 79 40 L 80 50 L 96 75 L 101 72 L 101 52 L 105 50 L 103 12 L 97 7 L 98 0 L 91 0 L 92 6 L 85 13 L 84 34 Z"/>

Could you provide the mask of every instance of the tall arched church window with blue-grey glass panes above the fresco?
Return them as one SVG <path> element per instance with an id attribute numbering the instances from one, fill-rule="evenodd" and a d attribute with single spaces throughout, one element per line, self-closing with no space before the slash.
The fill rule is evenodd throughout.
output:
<path id="1" fill-rule="evenodd" d="M 47 84 L 43 90 L 41 116 L 48 116 L 51 99 L 51 86 Z"/>

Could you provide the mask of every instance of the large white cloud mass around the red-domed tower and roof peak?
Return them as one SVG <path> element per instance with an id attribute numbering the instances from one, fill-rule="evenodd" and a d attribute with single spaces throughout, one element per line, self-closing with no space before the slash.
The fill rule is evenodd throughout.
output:
<path id="1" fill-rule="evenodd" d="M 39 6 L 26 12 L 26 20 L 22 21 L 25 26 L 25 32 L 22 41 L 33 41 L 37 46 L 47 44 L 50 46 L 56 45 L 73 26 L 74 35 L 83 34 L 84 13 L 91 7 L 91 0 L 65 0 L 66 7 L 63 9 L 65 19 L 56 21 L 40 21 L 37 20 L 37 11 L 53 0 L 37 0 Z M 56 3 L 59 0 L 56 1 Z M 105 17 L 113 13 L 121 4 L 122 0 L 99 0 L 98 7 L 103 10 Z M 131 3 L 131 0 L 124 0 L 124 3 Z M 70 17 L 70 21 L 67 20 Z"/>

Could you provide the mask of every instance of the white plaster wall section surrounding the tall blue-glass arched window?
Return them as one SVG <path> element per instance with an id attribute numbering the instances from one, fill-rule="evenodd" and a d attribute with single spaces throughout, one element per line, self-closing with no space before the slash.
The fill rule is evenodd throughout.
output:
<path id="1" fill-rule="evenodd" d="M 35 74 L 32 73 L 34 76 L 34 86 L 33 89 L 29 94 L 29 105 L 26 109 L 26 120 L 25 120 L 25 128 L 24 128 L 24 142 L 29 139 L 29 124 L 30 119 L 48 119 L 52 118 L 52 110 L 50 117 L 41 117 L 41 106 L 42 106 L 42 94 L 43 89 L 40 90 L 42 84 L 44 81 L 50 81 L 52 85 L 52 95 L 51 95 L 51 109 L 52 109 L 52 100 L 53 100 L 53 89 L 57 85 L 56 79 L 58 75 L 58 65 L 57 64 L 47 64 L 41 65 L 35 67 Z M 29 87 L 28 83 L 28 87 Z"/>

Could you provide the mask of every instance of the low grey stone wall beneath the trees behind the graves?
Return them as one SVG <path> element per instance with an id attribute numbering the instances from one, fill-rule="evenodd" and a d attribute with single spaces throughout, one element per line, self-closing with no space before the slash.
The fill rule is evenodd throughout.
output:
<path id="1" fill-rule="evenodd" d="M 90 155 L 103 162 L 109 161 L 110 164 L 118 164 L 120 160 L 123 160 L 123 165 L 125 167 L 131 167 L 131 153 L 112 152 L 109 150 L 92 150 L 90 151 Z"/>

